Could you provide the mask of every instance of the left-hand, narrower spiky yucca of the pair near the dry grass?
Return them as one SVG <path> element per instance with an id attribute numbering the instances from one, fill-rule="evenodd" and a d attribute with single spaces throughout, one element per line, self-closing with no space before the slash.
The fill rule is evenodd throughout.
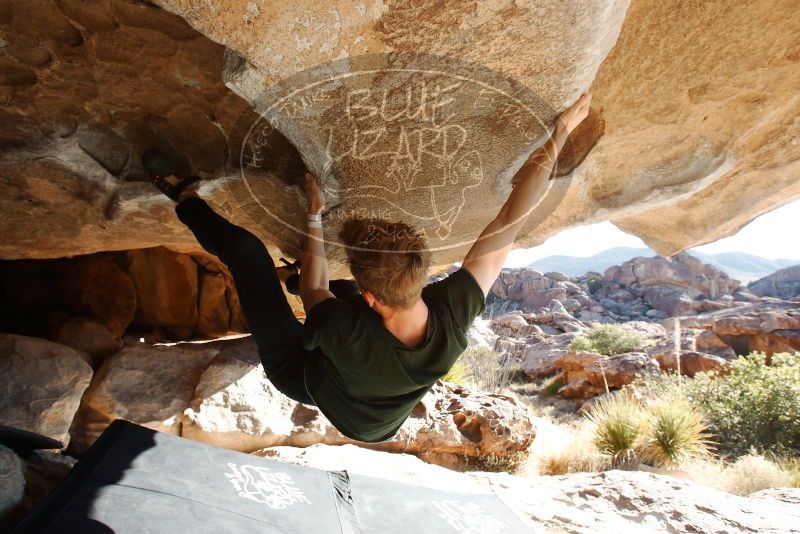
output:
<path id="1" fill-rule="evenodd" d="M 592 422 L 594 444 L 618 467 L 633 459 L 642 428 L 642 406 L 627 393 L 606 395 L 587 418 Z"/>

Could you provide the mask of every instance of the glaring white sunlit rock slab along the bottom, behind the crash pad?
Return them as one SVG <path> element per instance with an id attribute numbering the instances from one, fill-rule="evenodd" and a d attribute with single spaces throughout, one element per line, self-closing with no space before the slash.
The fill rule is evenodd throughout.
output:
<path id="1" fill-rule="evenodd" d="M 531 532 L 792 532 L 800 518 L 791 493 L 738 497 L 690 480 L 639 471 L 563 476 L 457 473 L 405 454 L 350 445 L 274 447 L 257 455 L 329 471 L 346 470 L 440 490 L 491 490 L 525 518 Z M 786 501 L 771 499 L 787 494 Z M 760 492 L 759 492 L 760 493 Z"/>

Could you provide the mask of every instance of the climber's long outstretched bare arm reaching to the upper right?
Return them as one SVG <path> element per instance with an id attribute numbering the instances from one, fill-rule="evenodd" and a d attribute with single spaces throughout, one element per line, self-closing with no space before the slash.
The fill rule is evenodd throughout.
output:
<path id="1" fill-rule="evenodd" d="M 528 215 L 550 188 L 558 153 L 570 132 L 586 118 L 590 102 L 591 95 L 583 95 L 559 116 L 553 135 L 517 172 L 514 190 L 464 258 L 464 268 L 475 277 L 484 295 L 489 294 Z"/>

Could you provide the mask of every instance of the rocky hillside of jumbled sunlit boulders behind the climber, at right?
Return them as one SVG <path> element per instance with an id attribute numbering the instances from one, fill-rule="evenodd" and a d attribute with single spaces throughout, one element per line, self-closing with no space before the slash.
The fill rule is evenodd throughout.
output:
<path id="1" fill-rule="evenodd" d="M 776 275 L 775 280 L 787 276 Z M 674 371 L 676 353 L 681 372 L 692 376 L 724 370 L 728 361 L 752 351 L 800 350 L 796 302 L 753 295 L 688 254 L 634 258 L 602 275 L 577 278 L 506 269 L 489 302 L 473 326 L 472 343 L 494 348 L 532 378 L 554 377 L 566 398 L 585 400 L 606 386 L 618 389 L 644 375 Z M 571 348 L 601 324 L 634 333 L 639 345 L 611 357 Z"/>

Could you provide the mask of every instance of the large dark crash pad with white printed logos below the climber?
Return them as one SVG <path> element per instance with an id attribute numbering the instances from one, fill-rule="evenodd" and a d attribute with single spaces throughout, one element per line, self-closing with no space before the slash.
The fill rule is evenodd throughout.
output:
<path id="1" fill-rule="evenodd" d="M 114 421 L 16 534 L 519 534 L 492 493 L 328 472 Z"/>

